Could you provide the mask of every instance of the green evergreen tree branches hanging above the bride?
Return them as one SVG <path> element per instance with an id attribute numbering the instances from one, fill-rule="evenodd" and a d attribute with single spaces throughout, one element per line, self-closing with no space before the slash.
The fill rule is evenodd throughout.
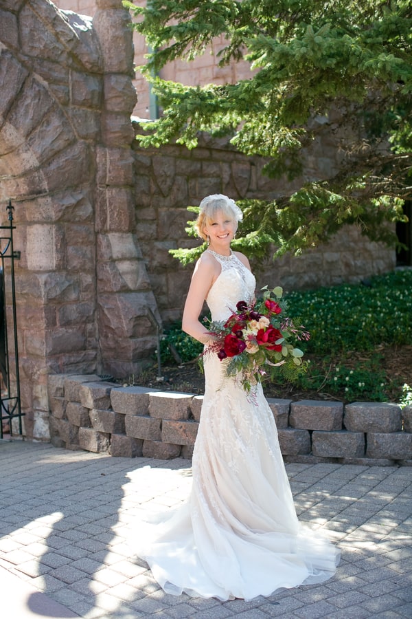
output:
<path id="1" fill-rule="evenodd" d="M 163 115 L 146 124 L 144 146 L 198 132 L 228 135 L 261 155 L 271 177 L 299 178 L 275 201 L 244 201 L 238 247 L 300 252 L 344 224 L 396 243 L 385 224 L 402 219 L 412 195 L 412 6 L 409 0 L 124 1 L 150 49 L 143 67 Z M 219 63 L 246 60 L 249 79 L 187 87 L 161 80 L 176 60 L 190 62 L 221 37 Z M 341 165 L 328 179 L 307 178 L 305 157 L 321 128 L 336 138 Z M 196 250 L 175 254 L 191 261 Z"/>

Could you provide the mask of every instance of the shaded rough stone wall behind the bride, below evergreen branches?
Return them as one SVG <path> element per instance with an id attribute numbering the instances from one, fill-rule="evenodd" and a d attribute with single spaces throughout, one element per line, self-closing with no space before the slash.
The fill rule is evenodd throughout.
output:
<path id="1" fill-rule="evenodd" d="M 134 123 L 136 133 L 142 125 Z M 144 125 L 143 125 L 144 128 Z M 317 139 L 306 152 L 305 175 L 323 178 L 339 168 L 339 135 L 330 133 L 327 122 L 319 122 Z M 349 130 L 348 130 L 349 131 Z M 210 193 L 225 193 L 233 199 L 271 199 L 293 193 L 303 182 L 271 180 L 262 174 L 264 160 L 246 157 L 227 140 L 201 135 L 198 148 L 188 151 L 170 144 L 159 149 L 141 149 L 133 144 L 136 170 L 136 232 L 159 312 L 165 323 L 181 317 L 194 265 L 183 267 L 170 249 L 196 246 L 202 241 L 188 237 L 187 221 Z M 286 255 L 261 264 L 251 261 L 258 290 L 264 285 L 282 285 L 299 290 L 343 282 L 359 282 L 373 274 L 393 270 L 393 248 L 361 236 L 355 226 L 345 226 L 329 243 L 304 251 L 299 257 Z"/>

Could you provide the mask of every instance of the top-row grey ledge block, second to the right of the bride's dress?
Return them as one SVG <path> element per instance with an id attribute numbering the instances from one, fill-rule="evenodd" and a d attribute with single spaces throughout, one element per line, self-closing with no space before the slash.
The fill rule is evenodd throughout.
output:
<path id="1" fill-rule="evenodd" d="M 341 430 L 342 402 L 300 400 L 290 404 L 289 425 L 300 430 Z"/>

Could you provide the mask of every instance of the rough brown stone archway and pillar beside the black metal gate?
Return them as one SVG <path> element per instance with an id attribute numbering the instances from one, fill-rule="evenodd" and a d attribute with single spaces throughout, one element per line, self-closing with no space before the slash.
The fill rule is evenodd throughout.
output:
<path id="1" fill-rule="evenodd" d="M 21 399 L 38 438 L 47 374 L 124 377 L 155 345 L 135 236 L 130 18 L 121 0 L 97 5 L 92 20 L 0 1 L 0 218 L 12 199 Z"/>

